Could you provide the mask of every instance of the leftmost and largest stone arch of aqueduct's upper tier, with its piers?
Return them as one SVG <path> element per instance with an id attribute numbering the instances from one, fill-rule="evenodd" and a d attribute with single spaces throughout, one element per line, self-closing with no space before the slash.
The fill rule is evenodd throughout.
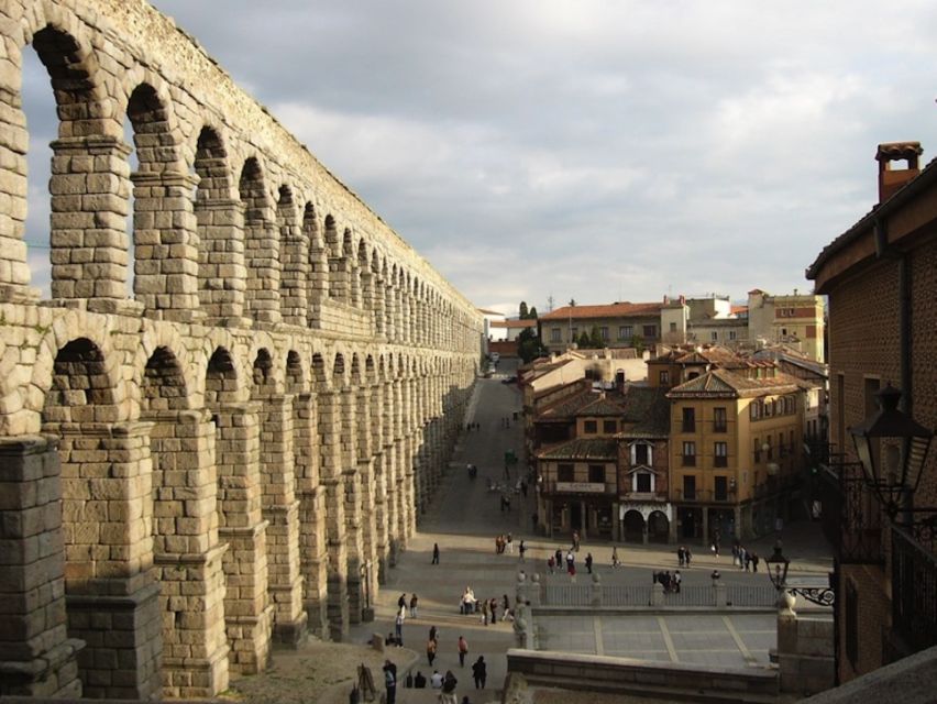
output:
<path id="1" fill-rule="evenodd" d="M 56 105 L 58 139 L 51 144 L 53 158 L 48 183 L 48 190 L 55 194 L 49 201 L 52 295 L 53 298 L 123 297 L 126 267 L 121 264 L 121 256 L 101 255 L 98 250 L 126 250 L 122 224 L 110 230 L 114 222 L 108 218 L 111 209 L 125 217 L 125 204 L 120 202 L 120 194 L 126 193 L 125 183 L 121 180 L 126 175 L 118 168 L 117 173 L 96 173 L 97 178 L 89 179 L 91 174 L 76 174 L 71 168 L 73 158 L 87 160 L 92 148 L 107 153 L 118 147 L 119 140 L 113 136 L 117 131 L 109 124 L 112 122 L 110 110 L 104 107 L 108 99 L 100 84 L 97 56 L 90 51 L 90 43 L 80 38 L 85 35 L 84 28 L 70 14 L 52 4 L 36 10 L 23 19 L 25 32 L 3 34 L 22 36 L 32 44 L 46 68 Z M 15 68 L 22 68 L 21 54 L 11 52 L 9 59 Z M 0 79 L 0 103 L 7 103 L 0 117 L 0 129 L 8 135 L 0 145 L 0 164 L 8 184 L 4 190 L 15 204 L 8 211 L 12 217 L 0 218 L 0 261 L 4 262 L 0 266 L 0 300 L 13 293 L 4 285 L 20 289 L 20 296 L 35 295 L 26 288 L 31 273 L 23 216 L 27 207 L 25 155 L 29 136 L 26 116 L 19 98 L 21 79 L 21 74 L 14 76 L 12 85 L 3 85 Z M 106 161 L 99 160 L 90 166 L 97 172 L 102 162 Z M 108 164 L 108 168 L 111 166 Z M 88 207 L 90 199 L 71 196 L 78 185 L 81 193 L 91 191 L 97 196 L 93 209 Z M 99 212 L 103 212 L 103 217 L 98 218 Z M 108 232 L 99 237 L 96 231 L 100 230 Z"/>

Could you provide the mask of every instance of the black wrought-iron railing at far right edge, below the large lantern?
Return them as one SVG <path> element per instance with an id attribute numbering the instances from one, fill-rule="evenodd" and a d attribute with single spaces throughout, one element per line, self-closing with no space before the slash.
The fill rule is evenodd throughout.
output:
<path id="1" fill-rule="evenodd" d="M 915 525 L 914 534 L 892 527 L 892 629 L 905 654 L 937 646 L 937 521 Z"/>

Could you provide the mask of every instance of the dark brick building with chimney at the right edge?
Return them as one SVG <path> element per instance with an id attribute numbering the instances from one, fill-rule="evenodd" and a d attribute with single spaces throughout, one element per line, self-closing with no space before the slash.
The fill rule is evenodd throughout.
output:
<path id="1" fill-rule="evenodd" d="M 919 155 L 917 142 L 879 145 L 879 204 L 807 268 L 829 301 L 831 446 L 818 465 L 817 499 L 837 552 L 844 682 L 937 645 L 937 508 L 927 509 L 937 507 L 937 452 L 926 457 L 917 491 L 905 493 L 916 512 L 892 522 L 857 465 L 850 433 L 888 384 L 901 389 L 901 410 L 937 427 L 937 164 L 919 170 Z"/>

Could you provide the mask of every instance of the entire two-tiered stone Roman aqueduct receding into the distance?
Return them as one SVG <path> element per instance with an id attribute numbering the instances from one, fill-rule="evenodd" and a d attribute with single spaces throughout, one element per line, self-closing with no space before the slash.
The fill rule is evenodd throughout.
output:
<path id="1" fill-rule="evenodd" d="M 213 695 L 366 615 L 481 318 L 142 0 L 7 0 L 0 38 L 0 695 Z M 57 106 L 48 300 L 26 52 Z"/>

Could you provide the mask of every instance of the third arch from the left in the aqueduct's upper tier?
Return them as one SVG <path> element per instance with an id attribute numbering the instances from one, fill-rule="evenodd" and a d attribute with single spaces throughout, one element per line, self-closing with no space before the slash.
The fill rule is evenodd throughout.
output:
<path id="1" fill-rule="evenodd" d="M 240 322 L 244 315 L 244 206 L 232 197 L 228 148 L 221 133 L 202 127 L 192 167 L 199 242 L 199 304 L 209 323 Z"/>

